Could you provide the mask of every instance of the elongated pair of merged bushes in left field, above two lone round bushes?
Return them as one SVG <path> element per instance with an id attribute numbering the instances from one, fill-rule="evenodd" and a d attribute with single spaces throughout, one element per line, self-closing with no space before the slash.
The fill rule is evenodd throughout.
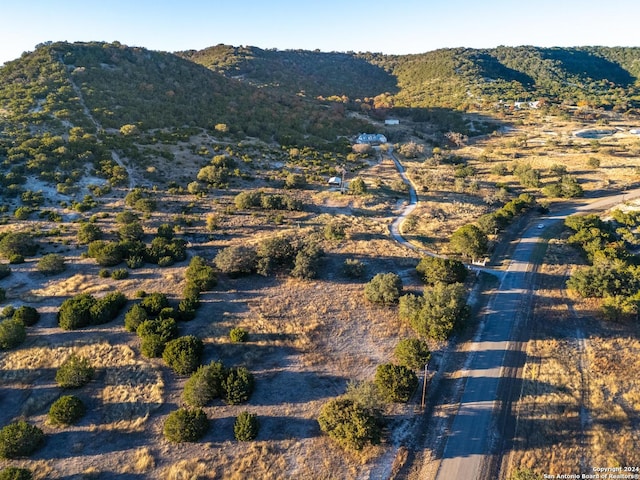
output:
<path id="1" fill-rule="evenodd" d="M 58 325 L 64 330 L 76 330 L 88 325 L 101 325 L 113 320 L 127 303 L 121 292 L 112 292 L 96 299 L 88 293 L 62 302 L 58 310 Z"/>

